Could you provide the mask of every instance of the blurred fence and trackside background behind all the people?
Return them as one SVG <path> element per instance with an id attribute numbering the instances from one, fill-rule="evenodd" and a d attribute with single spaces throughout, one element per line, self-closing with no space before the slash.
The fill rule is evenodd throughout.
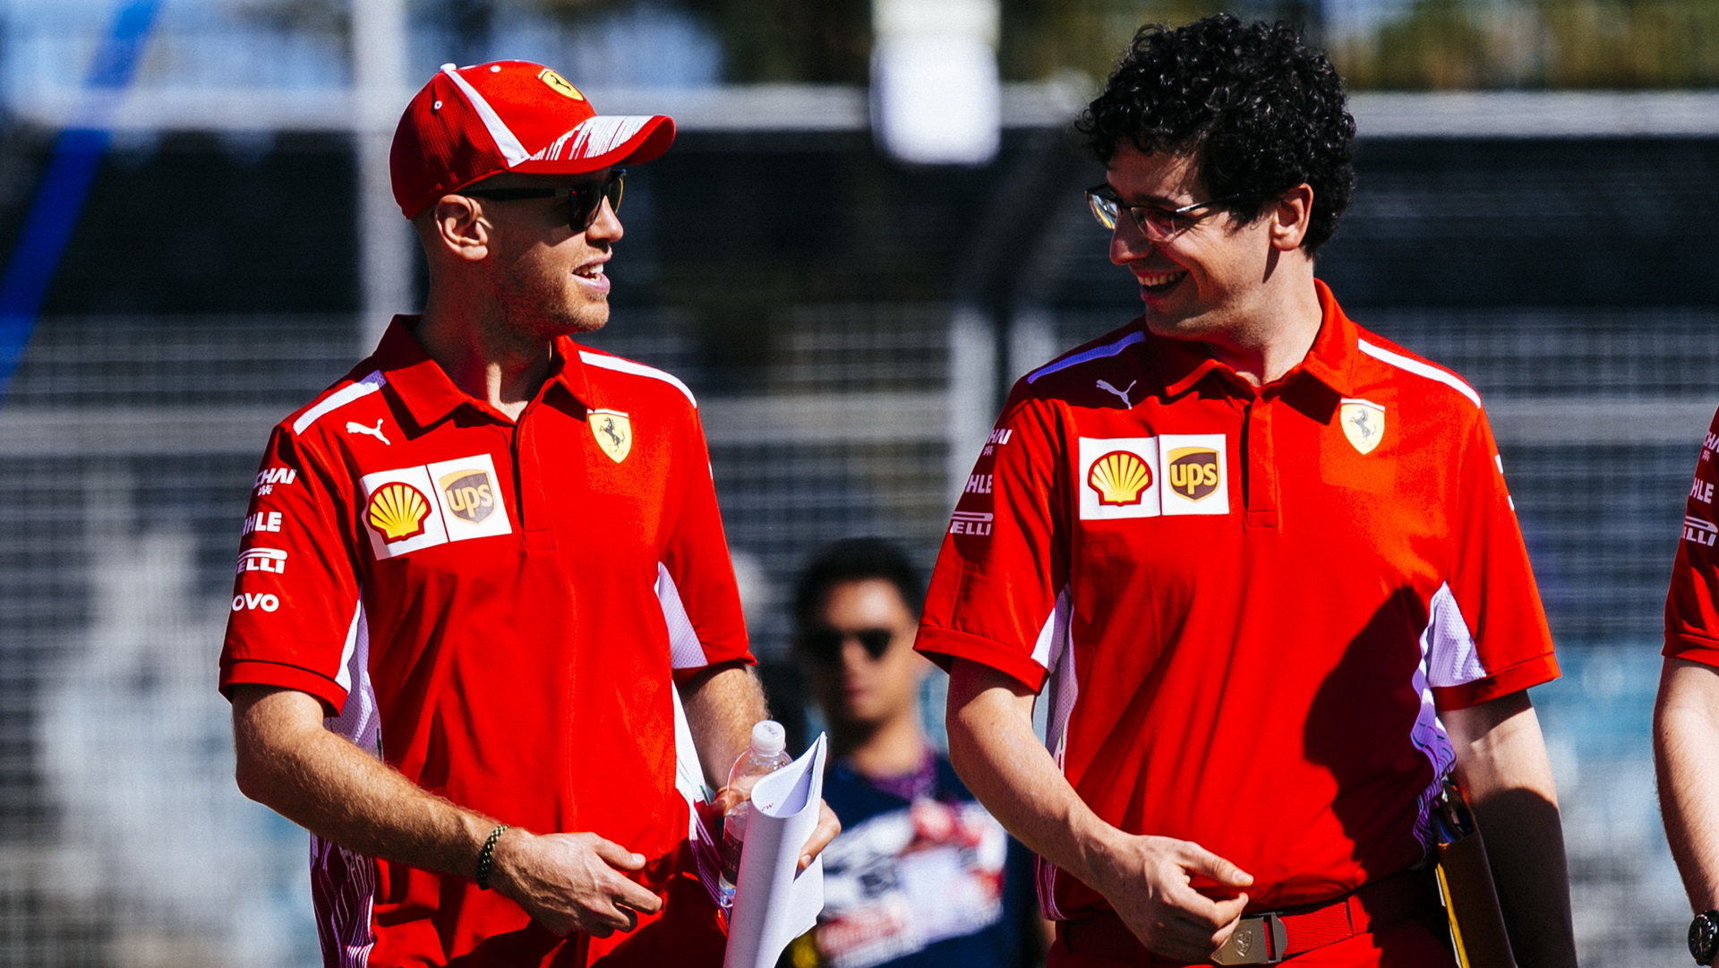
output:
<path id="1" fill-rule="evenodd" d="M 304 836 L 232 786 L 215 657 L 266 428 L 418 304 L 376 144 L 445 60 L 681 122 L 593 342 L 698 394 L 775 705 L 810 550 L 930 564 L 1012 377 L 1138 311 L 1066 122 L 1140 21 L 1208 7 L 951 0 L 995 52 L 942 100 L 994 115 L 964 163 L 873 132 L 882 7 L 0 0 L 0 965 L 316 963 Z M 1647 724 L 1719 402 L 1719 3 L 1233 9 L 1358 86 L 1320 275 L 1487 399 L 1566 664 L 1535 701 L 1585 963 L 1678 963 Z"/>

